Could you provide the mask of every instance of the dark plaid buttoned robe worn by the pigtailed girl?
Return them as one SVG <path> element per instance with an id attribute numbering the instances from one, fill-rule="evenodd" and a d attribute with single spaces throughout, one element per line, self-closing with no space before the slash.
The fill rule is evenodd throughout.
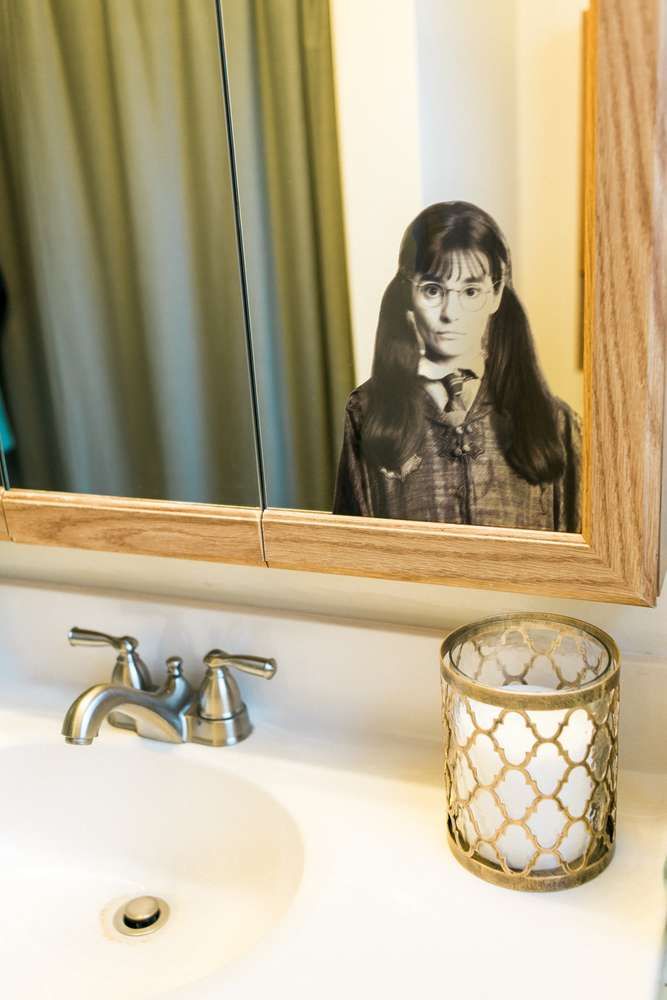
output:
<path id="1" fill-rule="evenodd" d="M 554 400 L 564 472 L 553 483 L 535 485 L 505 458 L 509 427 L 493 407 L 484 380 L 456 427 L 424 386 L 425 434 L 418 452 L 400 470 L 371 465 L 362 448 L 369 388 L 365 382 L 347 402 L 334 514 L 580 530 L 581 422 L 567 403 Z"/>

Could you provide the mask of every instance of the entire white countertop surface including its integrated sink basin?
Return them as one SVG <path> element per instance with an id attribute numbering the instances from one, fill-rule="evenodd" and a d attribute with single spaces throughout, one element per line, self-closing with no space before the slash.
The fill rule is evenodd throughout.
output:
<path id="1" fill-rule="evenodd" d="M 599 878 L 513 893 L 449 851 L 438 745 L 258 724 L 220 750 L 106 727 L 71 747 L 62 712 L 1 701 L 0 1000 L 403 1000 L 443 969 L 468 1000 L 657 1000 L 662 775 L 621 772 Z M 171 916 L 121 938 L 143 894 Z"/>

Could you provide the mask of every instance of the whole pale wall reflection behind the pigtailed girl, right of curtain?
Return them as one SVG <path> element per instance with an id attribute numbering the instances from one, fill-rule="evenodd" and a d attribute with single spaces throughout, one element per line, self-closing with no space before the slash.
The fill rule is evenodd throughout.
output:
<path id="1" fill-rule="evenodd" d="M 586 0 L 331 0 L 356 378 L 424 206 L 503 229 L 547 380 L 582 411 L 581 9 Z"/>

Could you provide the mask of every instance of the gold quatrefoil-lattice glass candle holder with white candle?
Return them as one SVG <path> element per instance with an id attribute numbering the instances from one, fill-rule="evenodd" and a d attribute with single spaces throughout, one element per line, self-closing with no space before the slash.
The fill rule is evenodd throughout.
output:
<path id="1" fill-rule="evenodd" d="M 616 833 L 614 641 L 574 618 L 517 613 L 457 629 L 441 653 L 454 856 L 511 889 L 594 878 Z"/>

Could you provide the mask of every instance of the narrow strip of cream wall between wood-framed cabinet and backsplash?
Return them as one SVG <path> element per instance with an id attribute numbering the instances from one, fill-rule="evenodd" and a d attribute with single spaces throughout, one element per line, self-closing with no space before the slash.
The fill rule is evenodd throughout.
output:
<path id="1" fill-rule="evenodd" d="M 103 588 L 211 601 L 225 607 L 280 609 L 391 627 L 447 630 L 502 611 L 553 611 L 608 631 L 622 652 L 651 657 L 667 669 L 667 592 L 656 608 L 534 597 L 361 577 L 188 562 L 157 556 L 85 552 L 0 542 L 0 580 L 35 586 Z M 0 636 L 1 640 L 1 636 Z M 317 650 L 313 650 L 317 659 Z"/>

